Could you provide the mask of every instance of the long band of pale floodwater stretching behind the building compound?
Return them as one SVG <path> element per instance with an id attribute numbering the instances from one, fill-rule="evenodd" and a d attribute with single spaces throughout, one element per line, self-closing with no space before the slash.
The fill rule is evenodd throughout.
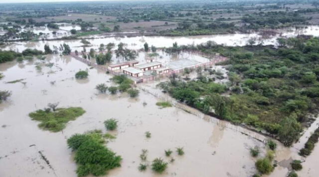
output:
<path id="1" fill-rule="evenodd" d="M 98 50 L 100 44 L 107 44 L 113 42 L 116 45 L 123 42 L 129 49 L 141 49 L 144 47 L 144 43 L 147 42 L 149 46 L 154 45 L 156 47 L 170 47 L 173 42 L 177 42 L 178 45 L 187 44 L 200 44 L 207 42 L 208 40 L 215 41 L 217 44 L 224 44 L 227 46 L 243 46 L 247 44 L 247 41 L 251 38 L 256 38 L 256 44 L 263 43 L 264 45 L 276 45 L 276 39 L 278 37 L 293 37 L 299 34 L 319 36 L 319 26 L 308 26 L 307 28 L 288 28 L 278 31 L 279 33 L 273 36 L 262 37 L 258 33 L 251 34 L 220 34 L 220 35 L 201 35 L 201 36 L 186 36 L 186 37 L 167 37 L 167 36 L 137 36 L 137 37 L 103 37 L 95 36 L 94 39 L 87 39 L 91 45 L 87 46 L 87 51 L 90 48 Z M 44 50 L 44 45 L 47 44 L 51 48 L 53 46 L 60 46 L 60 44 L 66 43 L 70 45 L 72 50 L 82 50 L 83 43 L 81 40 L 53 40 L 53 41 L 21 41 L 13 42 L 11 45 L 1 46 L 5 50 L 22 51 L 26 48 L 36 48 Z"/>

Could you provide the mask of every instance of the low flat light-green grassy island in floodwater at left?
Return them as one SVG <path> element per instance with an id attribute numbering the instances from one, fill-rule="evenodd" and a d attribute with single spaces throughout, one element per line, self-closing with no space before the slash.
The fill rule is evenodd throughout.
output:
<path id="1" fill-rule="evenodd" d="M 50 105 L 48 105 L 50 107 Z M 58 132 L 65 128 L 69 121 L 75 120 L 77 117 L 83 115 L 85 111 L 80 107 L 70 108 L 45 108 L 39 109 L 29 114 L 32 120 L 40 121 L 38 125 L 43 130 L 51 132 Z"/>

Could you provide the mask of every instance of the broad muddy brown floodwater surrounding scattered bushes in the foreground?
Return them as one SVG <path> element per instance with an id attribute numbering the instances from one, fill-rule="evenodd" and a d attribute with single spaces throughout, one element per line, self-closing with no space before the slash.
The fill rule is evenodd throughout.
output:
<path id="1" fill-rule="evenodd" d="M 99 40 L 108 43 L 106 39 L 98 39 L 96 45 L 100 44 Z M 141 44 L 144 42 L 140 41 Z M 7 46 L 6 49 L 15 47 L 21 50 L 41 46 L 42 41 L 26 42 Z M 143 59 L 145 56 L 142 54 Z M 162 60 L 166 62 L 165 57 Z M 232 125 L 227 122 L 216 124 L 212 117 L 196 116 L 176 107 L 160 109 L 156 106 L 159 99 L 148 92 L 141 90 L 136 99 L 129 98 L 126 93 L 97 93 L 94 89 L 97 84 L 113 85 L 109 81 L 112 76 L 97 69 L 89 69 L 89 66 L 70 56 L 48 55 L 41 62 L 34 59 L 0 64 L 0 72 L 5 76 L 0 80 L 0 88 L 12 91 L 10 99 L 0 104 L 1 177 L 76 177 L 76 164 L 73 153 L 67 148 L 67 138 L 94 129 L 106 132 L 103 122 L 109 118 L 118 119 L 119 128 L 111 132 L 117 138 L 106 146 L 123 158 L 122 167 L 110 171 L 107 175 L 109 177 L 249 177 L 256 173 L 256 158 L 250 156 L 249 149 L 258 146 L 262 151 L 261 157 L 265 155 L 264 143 L 252 138 L 254 136 L 246 136 L 229 128 Z M 52 68 L 45 66 L 49 62 L 54 63 Z M 36 65 L 42 69 L 37 70 Z M 74 78 L 80 69 L 89 71 L 88 79 Z M 5 83 L 17 79 L 24 80 L 14 84 Z M 139 88 L 160 95 L 162 93 L 155 87 L 158 82 L 141 84 Z M 43 131 L 37 127 L 38 122 L 30 120 L 28 113 L 54 102 L 59 102 L 60 107 L 80 106 L 86 113 L 69 122 L 62 132 Z M 144 102 L 146 106 L 143 106 Z M 151 139 L 145 138 L 146 131 L 152 133 Z M 301 142 L 305 142 L 310 133 L 306 132 Z M 259 137 L 267 139 L 261 135 Z M 169 161 L 164 156 L 164 150 L 175 151 L 176 147 L 183 147 L 185 155 L 179 157 L 174 152 L 175 162 L 169 164 L 162 175 L 154 174 L 150 167 L 146 172 L 138 171 L 142 149 L 149 151 L 148 163 L 151 164 L 155 158 Z M 303 161 L 298 155 L 300 147 L 296 144 L 286 148 L 279 144 L 276 151 L 279 166 L 270 177 L 286 176 L 289 171 L 287 162 L 291 158 Z M 313 154 L 303 163 L 304 169 L 298 172 L 300 176 L 319 176 L 316 168 L 318 154 L 319 148 L 316 146 Z"/>

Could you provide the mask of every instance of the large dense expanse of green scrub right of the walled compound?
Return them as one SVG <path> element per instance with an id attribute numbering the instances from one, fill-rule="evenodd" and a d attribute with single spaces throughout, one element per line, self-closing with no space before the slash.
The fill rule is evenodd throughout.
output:
<path id="1" fill-rule="evenodd" d="M 216 78 L 206 68 L 195 79 L 185 81 L 172 75 L 158 87 L 203 113 L 265 130 L 291 146 L 303 130 L 302 123 L 310 121 L 307 115 L 318 109 L 319 38 L 299 36 L 284 41 L 279 48 L 225 47 L 211 41 L 174 44 L 166 51 L 199 50 L 229 57 L 223 64 L 228 66 L 231 83 L 214 83 Z"/>

